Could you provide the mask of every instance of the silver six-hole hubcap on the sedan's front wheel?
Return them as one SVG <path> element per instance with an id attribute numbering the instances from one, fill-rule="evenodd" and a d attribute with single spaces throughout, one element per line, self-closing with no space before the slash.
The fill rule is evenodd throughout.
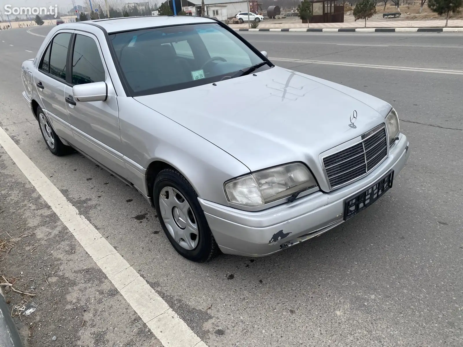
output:
<path id="1" fill-rule="evenodd" d="M 183 195 L 173 187 L 159 194 L 161 217 L 169 234 L 181 247 L 192 250 L 199 241 L 198 225 L 193 210 Z"/>

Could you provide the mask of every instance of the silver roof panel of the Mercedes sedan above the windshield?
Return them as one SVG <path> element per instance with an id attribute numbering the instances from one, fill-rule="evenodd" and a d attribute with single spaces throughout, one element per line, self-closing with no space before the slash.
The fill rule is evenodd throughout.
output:
<path id="1" fill-rule="evenodd" d="M 217 23 L 216 20 L 207 17 L 196 16 L 144 16 L 144 17 L 122 17 L 110 19 L 97 19 L 85 22 L 76 22 L 74 25 L 98 25 L 106 32 L 131 31 L 137 29 L 154 28 L 160 26 Z M 74 26 L 73 25 L 73 26 Z"/>

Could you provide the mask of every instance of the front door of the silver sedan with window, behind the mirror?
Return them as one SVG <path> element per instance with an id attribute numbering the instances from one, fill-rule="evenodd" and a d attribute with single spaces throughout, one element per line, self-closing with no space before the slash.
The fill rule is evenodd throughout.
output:
<path id="1" fill-rule="evenodd" d="M 127 177 L 122 161 L 116 92 L 103 63 L 98 39 L 90 33 L 79 32 L 71 47 L 71 76 L 64 94 L 75 146 L 116 174 Z M 102 81 L 107 85 L 106 101 L 78 102 L 74 98 L 72 86 Z"/>

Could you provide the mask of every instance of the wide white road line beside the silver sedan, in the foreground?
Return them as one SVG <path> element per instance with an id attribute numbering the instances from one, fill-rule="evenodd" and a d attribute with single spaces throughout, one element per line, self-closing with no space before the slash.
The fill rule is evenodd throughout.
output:
<path id="1" fill-rule="evenodd" d="M 0 127 L 0 145 L 165 347 L 207 347 Z"/>

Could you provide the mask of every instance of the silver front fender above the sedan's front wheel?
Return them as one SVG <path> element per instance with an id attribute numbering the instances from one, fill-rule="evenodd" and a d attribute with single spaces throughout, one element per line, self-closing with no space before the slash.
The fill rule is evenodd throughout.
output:
<path id="1" fill-rule="evenodd" d="M 228 205 L 223 184 L 250 172 L 242 162 L 191 130 L 140 104 L 118 97 L 124 155 L 146 169 L 153 161 L 175 167 L 200 198 Z"/>

